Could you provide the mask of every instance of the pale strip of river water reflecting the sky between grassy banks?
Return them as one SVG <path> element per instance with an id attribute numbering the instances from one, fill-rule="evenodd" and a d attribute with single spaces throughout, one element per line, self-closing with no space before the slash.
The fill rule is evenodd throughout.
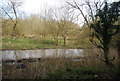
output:
<path id="1" fill-rule="evenodd" d="M 83 56 L 83 49 L 39 49 L 39 50 L 5 50 L 3 60 L 18 60 L 42 57 L 78 57 Z"/>

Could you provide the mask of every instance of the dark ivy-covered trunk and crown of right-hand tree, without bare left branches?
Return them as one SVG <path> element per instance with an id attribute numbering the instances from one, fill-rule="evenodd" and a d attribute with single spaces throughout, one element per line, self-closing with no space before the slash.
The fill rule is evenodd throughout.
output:
<path id="1" fill-rule="evenodd" d="M 104 3 L 105 6 L 102 10 L 99 10 L 96 14 L 98 20 L 91 24 L 91 28 L 95 30 L 95 37 L 100 41 L 99 47 L 104 51 L 103 60 L 108 66 L 113 66 L 112 60 L 109 59 L 109 48 L 110 41 L 113 35 L 118 33 L 120 26 L 116 25 L 115 22 L 118 21 L 120 16 L 120 1 L 113 2 L 108 5 L 107 2 Z"/>

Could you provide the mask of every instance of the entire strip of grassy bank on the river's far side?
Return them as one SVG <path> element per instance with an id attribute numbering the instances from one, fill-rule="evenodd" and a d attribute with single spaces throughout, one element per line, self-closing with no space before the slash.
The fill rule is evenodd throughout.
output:
<path id="1" fill-rule="evenodd" d="M 67 40 L 66 46 L 63 46 L 62 39 L 56 45 L 56 41 L 50 38 L 2 38 L 2 49 L 84 48 L 71 41 L 74 40 Z"/>

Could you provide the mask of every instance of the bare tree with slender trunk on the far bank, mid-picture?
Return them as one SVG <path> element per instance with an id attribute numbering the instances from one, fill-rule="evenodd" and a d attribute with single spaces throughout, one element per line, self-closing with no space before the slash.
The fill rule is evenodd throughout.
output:
<path id="1" fill-rule="evenodd" d="M 73 29 L 73 23 L 77 20 L 77 17 L 75 17 L 74 13 L 71 12 L 70 7 L 64 7 L 61 9 L 62 12 L 59 12 L 60 14 L 60 31 L 61 36 L 63 38 L 64 46 L 66 45 L 67 37 L 70 34 L 70 30 Z"/>

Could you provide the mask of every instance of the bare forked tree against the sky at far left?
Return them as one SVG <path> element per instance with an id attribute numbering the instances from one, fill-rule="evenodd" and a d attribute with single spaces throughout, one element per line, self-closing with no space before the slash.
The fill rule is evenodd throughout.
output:
<path id="1" fill-rule="evenodd" d="M 1 7 L 3 14 L 6 15 L 7 18 L 11 19 L 12 22 L 14 23 L 13 25 L 13 32 L 12 36 L 16 36 L 15 30 L 18 24 L 18 11 L 17 9 L 22 5 L 23 2 L 20 1 L 13 1 L 13 0 L 8 0 L 3 3 L 3 6 Z"/>

